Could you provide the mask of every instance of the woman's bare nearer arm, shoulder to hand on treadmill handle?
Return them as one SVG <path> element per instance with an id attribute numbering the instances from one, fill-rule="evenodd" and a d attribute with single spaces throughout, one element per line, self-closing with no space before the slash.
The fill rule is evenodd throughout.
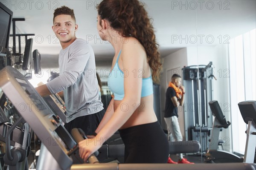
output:
<path id="1" fill-rule="evenodd" d="M 125 96 L 108 122 L 101 127 L 97 136 L 93 139 L 79 142 L 79 155 L 84 161 L 127 122 L 140 103 L 142 77 L 138 75 L 138 71 L 143 69 L 143 59 L 146 54 L 141 46 L 133 43 L 134 41 L 132 40 L 130 42 L 122 47 Z"/>

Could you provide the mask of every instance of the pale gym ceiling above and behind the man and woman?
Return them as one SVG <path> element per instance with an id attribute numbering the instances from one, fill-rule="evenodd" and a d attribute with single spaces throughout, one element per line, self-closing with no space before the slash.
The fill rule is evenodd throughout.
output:
<path id="1" fill-rule="evenodd" d="M 58 67 L 61 46 L 52 31 L 52 17 L 54 9 L 63 5 L 74 9 L 79 26 L 76 37 L 92 45 L 96 65 L 111 65 L 113 48 L 100 40 L 96 29 L 99 0 L 0 1 L 13 11 L 13 17 L 25 18 L 16 22 L 16 34 L 35 34 L 33 49 L 41 53 L 42 67 Z M 145 4 L 153 19 L 162 57 L 187 46 L 217 45 L 256 27 L 256 0 L 141 0 L 140 3 Z"/>

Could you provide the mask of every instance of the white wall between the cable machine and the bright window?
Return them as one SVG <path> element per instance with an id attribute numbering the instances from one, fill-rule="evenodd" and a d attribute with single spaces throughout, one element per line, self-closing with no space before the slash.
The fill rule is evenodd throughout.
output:
<path id="1" fill-rule="evenodd" d="M 226 120 L 231 122 L 228 45 L 188 47 L 187 57 L 188 65 L 207 65 L 212 62 L 213 74 L 217 79 L 212 79 L 212 100 L 219 102 Z M 231 126 L 221 131 L 219 139 L 225 140 L 224 150 L 230 151 L 232 148 Z"/>

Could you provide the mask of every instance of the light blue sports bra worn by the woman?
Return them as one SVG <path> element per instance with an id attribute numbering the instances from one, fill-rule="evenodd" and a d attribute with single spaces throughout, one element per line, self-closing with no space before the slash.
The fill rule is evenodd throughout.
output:
<path id="1" fill-rule="evenodd" d="M 128 76 L 128 73 L 124 75 L 123 71 L 118 66 L 118 59 L 121 54 L 121 51 L 118 54 L 116 59 L 116 64 L 114 65 L 112 71 L 108 77 L 108 88 L 114 94 L 115 100 L 122 100 L 125 96 L 124 91 L 124 77 Z M 153 82 L 152 77 L 143 78 L 142 79 L 142 90 L 141 90 L 141 97 L 149 96 L 153 94 Z"/>

